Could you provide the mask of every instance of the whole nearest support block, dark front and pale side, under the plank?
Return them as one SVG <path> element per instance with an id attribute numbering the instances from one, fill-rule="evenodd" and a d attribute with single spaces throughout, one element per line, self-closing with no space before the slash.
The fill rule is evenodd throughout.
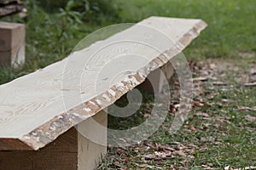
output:
<path id="1" fill-rule="evenodd" d="M 102 136 L 107 143 L 108 114 L 100 111 L 96 116 L 81 122 L 79 131 L 88 128 L 96 135 Z M 95 125 L 99 122 L 104 131 L 97 131 Z M 87 130 L 88 130 L 87 129 Z M 0 151 L 0 170 L 92 170 L 96 169 L 101 157 L 107 153 L 107 146 L 96 144 L 77 131 L 75 127 L 61 134 L 54 142 L 40 150 L 2 150 Z"/>

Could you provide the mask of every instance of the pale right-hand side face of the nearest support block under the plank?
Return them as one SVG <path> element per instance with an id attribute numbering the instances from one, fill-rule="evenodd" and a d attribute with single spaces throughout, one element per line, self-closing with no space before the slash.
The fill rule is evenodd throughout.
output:
<path id="1" fill-rule="evenodd" d="M 107 154 L 107 110 L 79 123 L 79 170 L 96 169 Z"/>

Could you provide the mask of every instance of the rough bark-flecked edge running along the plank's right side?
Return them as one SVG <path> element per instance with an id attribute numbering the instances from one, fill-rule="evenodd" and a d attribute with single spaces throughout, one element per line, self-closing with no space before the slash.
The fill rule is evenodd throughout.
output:
<path id="1" fill-rule="evenodd" d="M 42 124 L 35 128 L 32 132 L 23 135 L 19 139 L 0 139 L 0 145 L 3 144 L 3 150 L 38 150 L 46 144 L 54 141 L 62 133 L 79 122 L 83 122 L 90 116 L 96 115 L 97 112 L 102 111 L 109 105 L 112 105 L 122 95 L 129 92 L 132 88 L 144 82 L 146 77 L 151 71 L 165 65 L 172 57 L 180 54 L 189 43 L 198 37 L 200 32 L 207 27 L 203 20 L 199 20 L 195 26 L 183 35 L 182 38 L 170 49 L 166 50 L 163 54 L 151 60 L 145 67 L 137 71 L 136 74 L 127 75 L 125 80 L 115 84 L 103 94 L 97 95 L 95 98 L 77 105 L 73 109 L 55 116 L 49 122 Z M 98 101 L 101 101 L 99 104 Z M 85 108 L 90 108 L 89 113 L 85 113 Z M 4 145 L 5 144 L 5 145 Z"/>

